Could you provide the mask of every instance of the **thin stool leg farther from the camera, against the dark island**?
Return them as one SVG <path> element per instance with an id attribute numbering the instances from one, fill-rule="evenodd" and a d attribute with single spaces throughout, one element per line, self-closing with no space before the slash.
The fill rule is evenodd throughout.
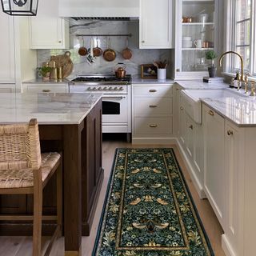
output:
<path id="1" fill-rule="evenodd" d="M 62 158 L 57 170 L 57 225 L 62 236 Z"/>

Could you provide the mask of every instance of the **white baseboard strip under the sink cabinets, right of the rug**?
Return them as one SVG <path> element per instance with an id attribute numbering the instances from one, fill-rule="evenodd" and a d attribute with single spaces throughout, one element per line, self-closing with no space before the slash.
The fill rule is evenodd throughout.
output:
<path id="1" fill-rule="evenodd" d="M 186 169 L 188 170 L 188 172 L 190 174 L 190 178 L 192 179 L 194 187 L 198 192 L 199 198 L 200 199 L 207 198 L 206 193 L 203 190 L 202 184 L 199 182 L 198 177 L 195 174 L 194 168 L 191 165 L 189 158 L 186 156 L 186 152 L 183 150 L 181 143 L 178 141 L 178 138 L 175 138 L 175 144 L 178 146 L 178 150 L 180 151 L 180 153 L 182 155 L 182 159 L 185 162 Z"/>

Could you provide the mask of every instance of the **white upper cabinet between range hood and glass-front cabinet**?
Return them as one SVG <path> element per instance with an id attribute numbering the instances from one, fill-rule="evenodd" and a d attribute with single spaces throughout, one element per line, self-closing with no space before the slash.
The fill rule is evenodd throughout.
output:
<path id="1" fill-rule="evenodd" d="M 173 0 L 140 0 L 139 48 L 173 48 Z"/>

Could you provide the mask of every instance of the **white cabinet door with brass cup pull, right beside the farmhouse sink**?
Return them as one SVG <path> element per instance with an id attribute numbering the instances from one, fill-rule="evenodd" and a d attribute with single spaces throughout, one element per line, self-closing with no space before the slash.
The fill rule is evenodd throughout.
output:
<path id="1" fill-rule="evenodd" d="M 206 196 L 221 225 L 225 221 L 226 171 L 224 162 L 224 118 L 203 106 L 205 129 L 205 177 Z"/>

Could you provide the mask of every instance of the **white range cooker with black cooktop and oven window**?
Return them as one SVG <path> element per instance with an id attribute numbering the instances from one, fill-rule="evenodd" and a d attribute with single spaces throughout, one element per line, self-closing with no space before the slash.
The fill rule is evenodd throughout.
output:
<path id="1" fill-rule="evenodd" d="M 131 76 L 81 75 L 70 81 L 70 93 L 102 93 L 102 132 L 131 133 Z M 127 137 L 127 138 L 128 138 Z"/>

